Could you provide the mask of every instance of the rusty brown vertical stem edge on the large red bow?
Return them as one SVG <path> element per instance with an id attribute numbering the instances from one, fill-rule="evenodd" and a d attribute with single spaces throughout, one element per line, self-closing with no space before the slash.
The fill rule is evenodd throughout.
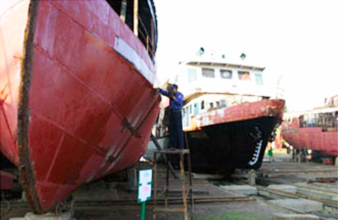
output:
<path id="1" fill-rule="evenodd" d="M 29 109 L 28 98 L 33 69 L 34 57 L 34 30 L 37 17 L 38 1 L 31 1 L 28 10 L 28 21 L 25 30 L 23 62 L 21 64 L 21 83 L 19 88 L 19 106 L 17 118 L 17 147 L 18 147 L 18 168 L 22 185 L 27 195 L 27 202 L 33 208 L 35 213 L 43 213 L 43 208 L 35 191 L 35 177 L 33 175 L 32 165 L 29 162 Z"/>

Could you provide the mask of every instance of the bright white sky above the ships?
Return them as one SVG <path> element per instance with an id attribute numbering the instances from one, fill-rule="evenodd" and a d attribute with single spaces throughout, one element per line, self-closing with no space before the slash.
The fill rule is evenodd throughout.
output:
<path id="1" fill-rule="evenodd" d="M 200 47 L 247 54 L 265 83 L 285 90 L 288 110 L 338 94 L 338 1 L 155 0 L 157 77 Z"/>

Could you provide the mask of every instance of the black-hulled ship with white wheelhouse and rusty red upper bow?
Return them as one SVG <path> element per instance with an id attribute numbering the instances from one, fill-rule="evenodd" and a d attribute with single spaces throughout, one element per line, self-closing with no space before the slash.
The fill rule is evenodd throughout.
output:
<path id="1" fill-rule="evenodd" d="M 272 133 L 282 123 L 285 101 L 276 97 L 275 87 L 266 85 L 265 68 L 248 65 L 244 53 L 235 62 L 202 54 L 180 63 L 172 80 L 185 96 L 183 130 L 192 169 L 258 169 Z M 166 118 L 158 123 L 157 136 L 167 131 Z"/>

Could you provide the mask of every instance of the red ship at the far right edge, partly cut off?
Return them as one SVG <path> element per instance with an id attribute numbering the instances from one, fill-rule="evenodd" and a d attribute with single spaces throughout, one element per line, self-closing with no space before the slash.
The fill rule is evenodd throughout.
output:
<path id="1" fill-rule="evenodd" d="M 337 157 L 338 95 L 325 100 L 325 106 L 311 111 L 287 112 L 282 137 L 298 151 L 311 152 L 315 160 Z"/>

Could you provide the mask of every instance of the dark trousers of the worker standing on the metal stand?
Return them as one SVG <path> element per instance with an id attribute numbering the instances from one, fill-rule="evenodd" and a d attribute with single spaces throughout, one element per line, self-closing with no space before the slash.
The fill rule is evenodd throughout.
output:
<path id="1" fill-rule="evenodd" d="M 184 149 L 181 110 L 171 110 L 169 132 L 170 132 L 171 147 L 177 149 Z"/>

